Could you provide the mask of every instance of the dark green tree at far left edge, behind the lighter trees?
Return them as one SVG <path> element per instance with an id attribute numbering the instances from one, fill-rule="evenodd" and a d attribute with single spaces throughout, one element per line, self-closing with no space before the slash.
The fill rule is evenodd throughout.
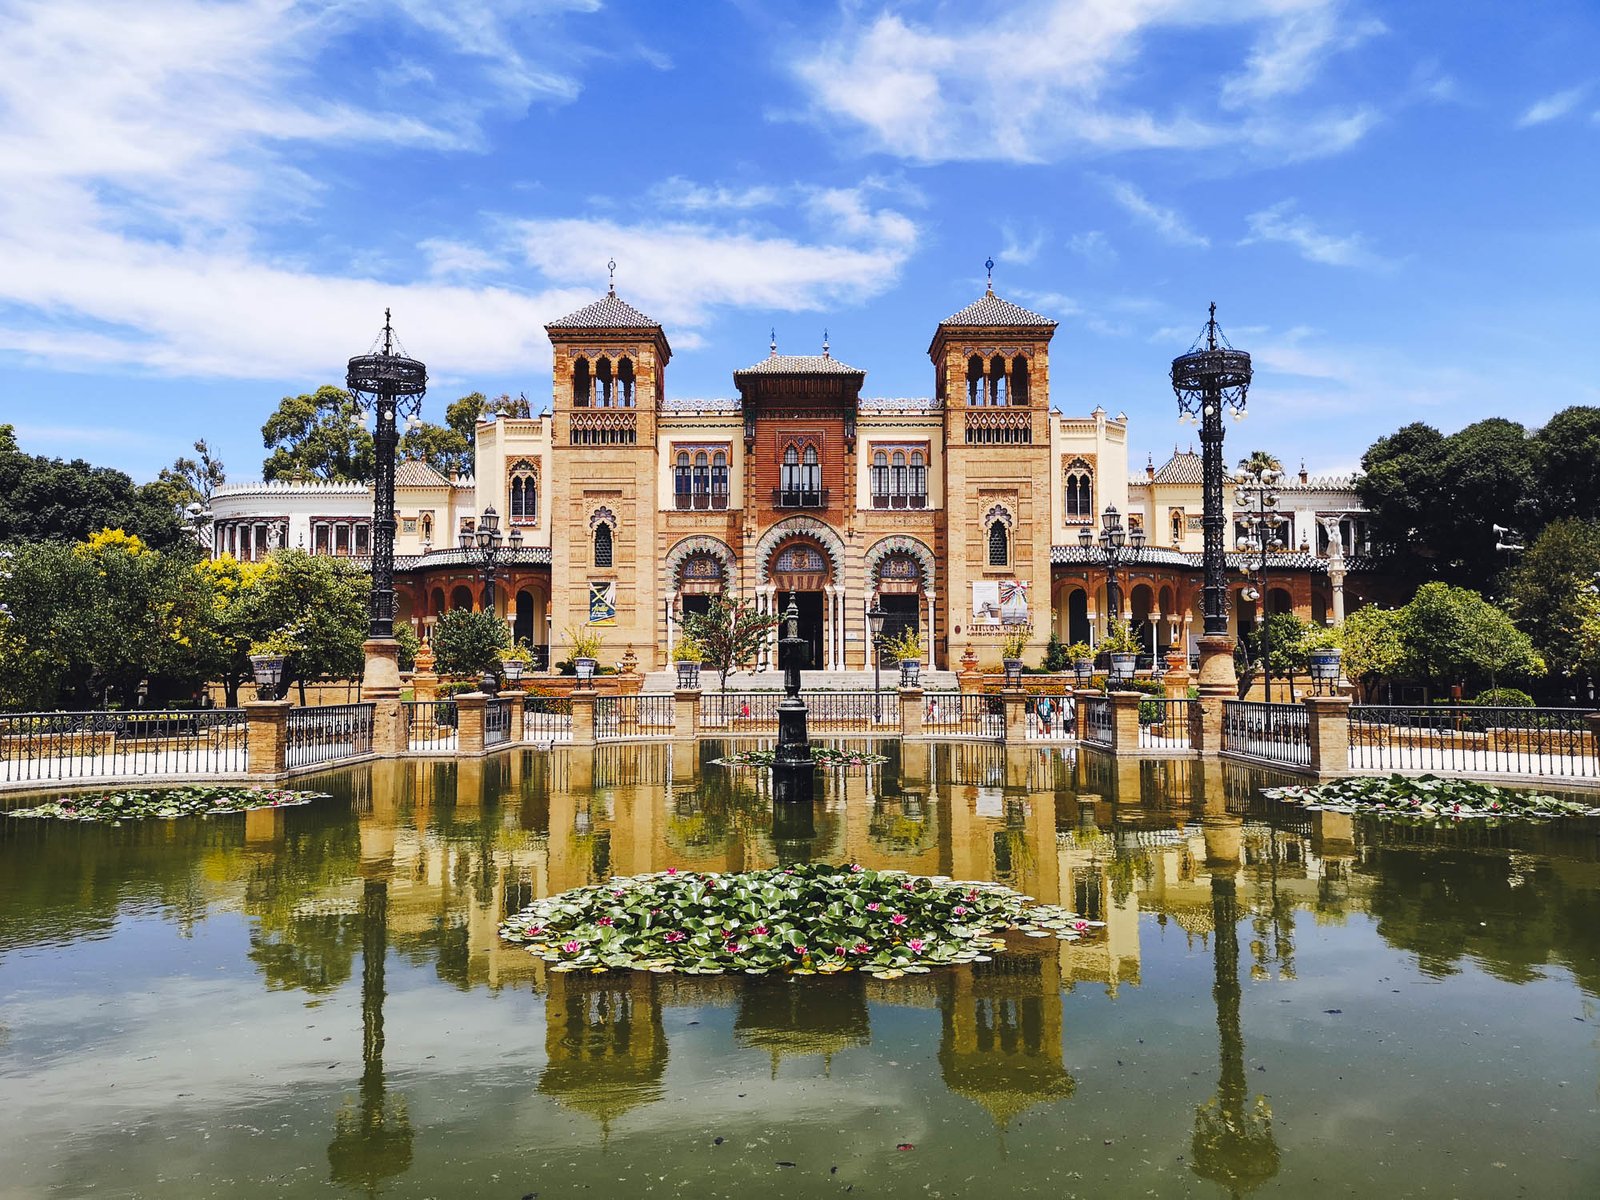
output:
<path id="1" fill-rule="evenodd" d="M 0 426 L 0 542 L 74 542 L 102 528 L 155 549 L 182 536 L 163 493 L 83 459 L 24 454 L 16 430 Z"/>

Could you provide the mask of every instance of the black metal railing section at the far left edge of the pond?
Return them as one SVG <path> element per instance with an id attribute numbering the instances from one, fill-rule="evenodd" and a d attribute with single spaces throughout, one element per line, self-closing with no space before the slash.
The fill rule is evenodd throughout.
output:
<path id="1" fill-rule="evenodd" d="M 243 709 L 0 715 L 0 781 L 245 771 Z"/>

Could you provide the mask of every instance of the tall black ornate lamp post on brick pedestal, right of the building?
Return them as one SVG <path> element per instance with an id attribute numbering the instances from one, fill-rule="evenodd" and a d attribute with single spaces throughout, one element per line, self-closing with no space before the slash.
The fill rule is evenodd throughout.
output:
<path id="1" fill-rule="evenodd" d="M 1202 346 L 1202 341 L 1205 342 Z M 1227 637 L 1227 562 L 1222 557 L 1222 406 L 1245 414 L 1250 392 L 1250 355 L 1229 346 L 1216 326 L 1216 304 L 1205 333 L 1187 354 L 1173 358 L 1173 394 L 1179 418 L 1200 421 L 1200 478 L 1205 502 L 1200 528 L 1205 533 L 1205 626 L 1200 637 L 1200 691 L 1232 696 L 1234 645 Z"/>

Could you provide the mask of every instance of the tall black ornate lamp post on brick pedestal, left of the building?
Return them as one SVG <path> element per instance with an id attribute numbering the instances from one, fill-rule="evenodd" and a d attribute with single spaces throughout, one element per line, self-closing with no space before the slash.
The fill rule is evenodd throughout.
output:
<path id="1" fill-rule="evenodd" d="M 400 643 L 395 642 L 395 446 L 397 416 L 422 411 L 427 368 L 395 350 L 394 325 L 384 309 L 382 349 L 350 358 L 344 386 L 362 408 L 376 414 L 373 432 L 373 598 L 362 698 L 379 704 L 373 741 L 379 752 L 400 744 Z"/>

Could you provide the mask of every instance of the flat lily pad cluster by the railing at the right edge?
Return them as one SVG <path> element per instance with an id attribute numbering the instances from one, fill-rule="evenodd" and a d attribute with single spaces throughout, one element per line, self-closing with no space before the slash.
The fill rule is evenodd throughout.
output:
<path id="1" fill-rule="evenodd" d="M 1576 800 L 1437 774 L 1357 776 L 1315 786 L 1267 787 L 1262 794 L 1314 811 L 1358 813 L 1413 824 L 1600 816 L 1600 808 Z"/>

